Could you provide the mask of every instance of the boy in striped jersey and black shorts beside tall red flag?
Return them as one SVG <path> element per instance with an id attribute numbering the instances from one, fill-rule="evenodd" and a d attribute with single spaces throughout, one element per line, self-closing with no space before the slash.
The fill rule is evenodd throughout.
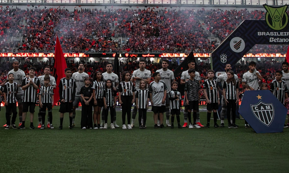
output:
<path id="1" fill-rule="evenodd" d="M 69 113 L 69 129 L 72 129 L 72 112 L 73 112 L 73 101 L 75 99 L 76 93 L 76 83 L 73 78 L 71 78 L 71 69 L 64 69 L 65 78 L 60 79 L 59 82 L 59 97 L 60 97 L 60 126 L 59 129 L 63 128 L 63 118 L 64 113 Z"/>

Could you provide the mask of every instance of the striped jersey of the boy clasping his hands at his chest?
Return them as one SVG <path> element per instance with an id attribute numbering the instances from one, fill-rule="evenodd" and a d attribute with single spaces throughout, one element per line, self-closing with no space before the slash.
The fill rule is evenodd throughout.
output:
<path id="1" fill-rule="evenodd" d="M 36 84 L 39 87 L 40 80 L 38 79 L 38 77 L 34 77 L 33 79 L 30 77 L 24 78 L 22 81 L 22 87 L 27 85 L 30 80 L 32 80 L 34 84 Z M 33 103 L 37 102 L 37 89 L 33 87 L 33 84 L 30 84 L 24 90 L 23 102 L 33 102 Z"/>

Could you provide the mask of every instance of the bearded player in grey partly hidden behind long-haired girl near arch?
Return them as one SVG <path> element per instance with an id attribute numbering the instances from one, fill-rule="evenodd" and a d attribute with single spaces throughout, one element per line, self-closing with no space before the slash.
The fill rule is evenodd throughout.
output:
<path id="1" fill-rule="evenodd" d="M 219 75 L 216 79 L 217 82 L 221 83 L 221 85 L 222 85 L 222 88 L 219 87 L 219 91 L 222 93 L 221 127 L 225 127 L 224 119 L 225 119 L 225 115 L 227 114 L 227 106 L 225 104 L 225 98 L 223 96 L 223 84 L 224 84 L 225 80 L 227 80 L 227 72 L 229 72 L 231 70 L 232 70 L 231 65 L 226 64 L 225 65 L 225 73 Z M 234 74 L 234 78 L 235 78 L 236 82 L 239 81 L 239 78 L 236 74 Z M 232 115 L 232 113 L 231 113 L 231 115 Z"/>

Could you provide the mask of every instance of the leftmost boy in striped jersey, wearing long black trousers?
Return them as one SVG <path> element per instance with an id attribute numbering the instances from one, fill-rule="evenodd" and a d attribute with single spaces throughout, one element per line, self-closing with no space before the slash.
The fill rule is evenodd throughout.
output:
<path id="1" fill-rule="evenodd" d="M 9 73 L 7 76 L 7 79 L 9 82 L 5 83 L 4 85 L 4 103 L 5 103 L 5 108 L 6 108 L 6 127 L 5 129 L 9 129 L 10 125 L 12 125 L 13 129 L 17 129 L 15 125 L 16 117 L 17 117 L 17 107 L 16 107 L 16 95 L 18 93 L 18 84 L 14 82 L 14 74 Z M 1 91 L 0 91 L 1 94 Z M 10 124 L 10 112 L 12 111 L 13 116 L 12 116 L 12 121 Z"/>

